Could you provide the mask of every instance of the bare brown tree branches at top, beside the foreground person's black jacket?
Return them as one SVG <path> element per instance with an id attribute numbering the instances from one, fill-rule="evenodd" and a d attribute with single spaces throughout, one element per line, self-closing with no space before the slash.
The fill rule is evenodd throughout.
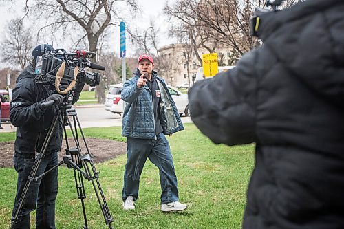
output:
<path id="1" fill-rule="evenodd" d="M 244 54 L 254 44 L 249 32 L 252 1 L 240 0 L 180 0 L 180 12 L 193 17 L 193 28 L 207 45 L 225 45 Z M 263 4 L 262 1 L 258 3 Z M 178 6 L 178 4 L 177 4 Z M 190 21 L 190 20 L 189 20 Z M 189 24 L 190 25 L 190 24 Z M 195 40 L 197 42 L 197 39 Z"/>

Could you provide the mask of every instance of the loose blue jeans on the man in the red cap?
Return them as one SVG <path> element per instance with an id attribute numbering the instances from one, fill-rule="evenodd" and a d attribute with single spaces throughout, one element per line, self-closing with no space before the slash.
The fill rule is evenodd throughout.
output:
<path id="1" fill-rule="evenodd" d="M 147 158 L 159 168 L 161 186 L 161 204 L 178 201 L 177 177 L 173 166 L 173 158 L 169 142 L 164 133 L 156 140 L 127 138 L 127 164 L 125 165 L 122 199 L 128 196 L 138 199 L 140 175 Z"/>

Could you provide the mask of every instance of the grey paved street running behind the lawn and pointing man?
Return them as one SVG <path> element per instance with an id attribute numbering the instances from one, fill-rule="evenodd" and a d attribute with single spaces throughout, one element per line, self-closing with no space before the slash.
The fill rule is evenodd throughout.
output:
<path id="1" fill-rule="evenodd" d="M 87 127 L 115 127 L 122 125 L 122 117 L 118 114 L 105 111 L 103 105 L 76 106 L 74 107 L 82 128 Z M 182 122 L 192 122 L 190 117 L 182 116 Z M 2 122 L 0 133 L 16 131 L 10 122 Z"/>

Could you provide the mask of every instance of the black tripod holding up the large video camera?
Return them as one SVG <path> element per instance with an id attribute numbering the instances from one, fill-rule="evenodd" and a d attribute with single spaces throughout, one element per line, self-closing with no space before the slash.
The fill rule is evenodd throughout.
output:
<path id="1" fill-rule="evenodd" d="M 72 116 L 73 118 L 72 120 L 74 124 L 72 124 L 72 121 L 69 118 L 69 116 Z M 39 165 L 41 164 L 41 160 L 43 159 L 45 155 L 47 146 L 49 146 L 52 133 L 56 127 L 56 124 L 58 124 L 58 120 L 60 117 L 63 120 L 63 132 L 65 135 L 65 142 L 66 142 L 66 149 L 65 149 L 66 155 L 63 156 L 63 160 L 59 162 L 56 166 L 50 168 L 50 170 L 36 177 L 36 173 L 39 169 Z M 67 125 L 69 125 L 70 127 L 70 131 L 72 132 L 73 140 L 76 145 L 76 147 L 74 148 L 69 147 L 67 131 L 66 131 Z M 78 138 L 78 129 L 81 133 L 83 144 L 85 145 L 85 149 L 87 151 L 87 153 L 85 154 L 81 153 L 80 142 Z M 61 164 L 67 164 L 67 168 L 73 168 L 76 191 L 78 193 L 78 199 L 80 199 L 81 207 L 83 209 L 83 218 L 85 221 L 85 225 L 83 226 L 83 228 L 88 229 L 87 216 L 86 216 L 86 210 L 85 210 L 85 201 L 84 201 L 84 199 L 86 198 L 84 179 L 87 179 L 88 181 L 92 182 L 94 193 L 96 194 L 96 197 L 98 199 L 98 204 L 100 206 L 100 210 L 103 213 L 105 223 L 107 226 L 109 226 L 110 229 L 112 229 L 111 223 L 113 222 L 113 219 L 111 217 L 109 208 L 107 207 L 107 202 L 105 200 L 103 190 L 100 186 L 100 182 L 98 179 L 99 174 L 96 171 L 96 167 L 94 166 L 92 155 L 89 153 L 89 148 L 85 140 L 83 130 L 81 129 L 76 111 L 75 109 L 72 109 L 72 105 L 67 105 L 67 103 L 63 103 L 61 107 L 58 107 L 58 113 L 56 113 L 56 115 L 54 116 L 52 120 L 52 124 L 50 124 L 50 127 L 47 131 L 47 135 L 41 147 L 41 152 L 36 154 L 34 165 L 32 166 L 32 170 L 30 172 L 30 175 L 28 176 L 28 180 L 23 189 L 23 193 L 21 193 L 21 197 L 19 199 L 19 204 L 17 206 L 17 209 L 14 212 L 14 215 L 11 219 L 12 220 L 11 228 L 13 228 L 15 222 L 19 219 L 19 214 L 21 213 L 21 210 L 23 208 L 23 202 L 25 201 L 25 197 L 28 194 L 28 190 L 32 182 L 42 179 L 47 173 L 50 173 L 50 171 L 56 169 L 58 166 L 61 166 Z"/>

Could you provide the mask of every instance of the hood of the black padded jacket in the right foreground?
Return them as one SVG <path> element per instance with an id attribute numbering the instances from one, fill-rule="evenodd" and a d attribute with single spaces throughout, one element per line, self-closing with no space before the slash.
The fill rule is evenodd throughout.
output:
<path id="1" fill-rule="evenodd" d="M 344 1 L 309 0 L 261 15 L 260 39 L 293 76 L 327 98 L 344 96 Z"/>

